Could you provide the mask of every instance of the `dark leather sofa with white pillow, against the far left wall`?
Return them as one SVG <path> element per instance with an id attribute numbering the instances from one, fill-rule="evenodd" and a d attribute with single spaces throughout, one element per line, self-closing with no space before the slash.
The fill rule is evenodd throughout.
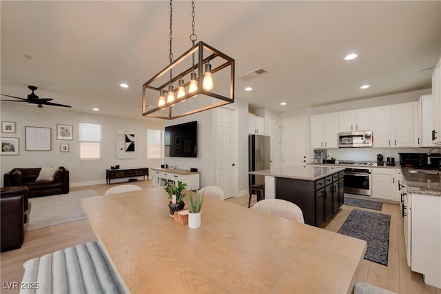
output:
<path id="1" fill-rule="evenodd" d="M 28 187 L 28 197 L 40 197 L 57 194 L 69 193 L 69 170 L 60 166 L 54 173 L 52 181 L 35 182 L 39 176 L 41 168 L 12 168 L 3 177 L 3 185 L 26 186 Z"/>

